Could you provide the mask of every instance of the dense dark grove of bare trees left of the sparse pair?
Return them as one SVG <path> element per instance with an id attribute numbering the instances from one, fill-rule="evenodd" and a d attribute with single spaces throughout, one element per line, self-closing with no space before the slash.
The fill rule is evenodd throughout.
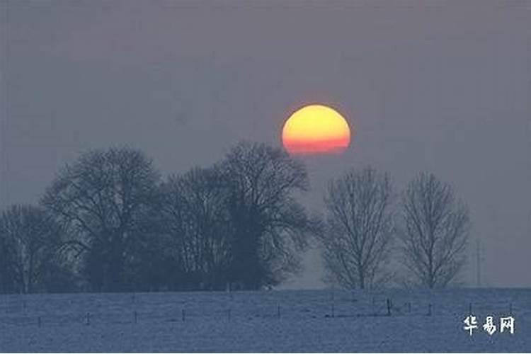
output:
<path id="1" fill-rule="evenodd" d="M 293 197 L 307 188 L 304 165 L 265 144 L 166 180 L 138 150 L 87 152 L 38 207 L 1 215 L 0 291 L 65 290 L 57 267 L 89 291 L 276 285 L 317 229 Z"/>

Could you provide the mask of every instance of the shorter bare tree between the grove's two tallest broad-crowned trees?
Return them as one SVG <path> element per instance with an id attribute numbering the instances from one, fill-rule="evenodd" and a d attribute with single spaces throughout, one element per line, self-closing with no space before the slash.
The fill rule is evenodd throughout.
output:
<path id="1" fill-rule="evenodd" d="M 224 289 L 230 254 L 230 222 L 227 188 L 214 168 L 195 168 L 183 176 L 171 176 L 164 184 L 166 232 L 169 256 L 188 286 Z M 183 284 L 181 284 L 183 285 Z"/>

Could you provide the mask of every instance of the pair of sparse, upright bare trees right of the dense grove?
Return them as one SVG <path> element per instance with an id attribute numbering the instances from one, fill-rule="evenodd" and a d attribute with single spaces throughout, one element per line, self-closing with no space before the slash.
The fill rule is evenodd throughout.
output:
<path id="1" fill-rule="evenodd" d="M 419 174 L 396 198 L 387 173 L 350 171 L 330 183 L 326 209 L 324 261 L 329 279 L 342 287 L 389 280 L 445 287 L 462 270 L 469 212 L 433 174 Z M 397 265 L 405 266 L 407 278 L 392 271 Z"/>

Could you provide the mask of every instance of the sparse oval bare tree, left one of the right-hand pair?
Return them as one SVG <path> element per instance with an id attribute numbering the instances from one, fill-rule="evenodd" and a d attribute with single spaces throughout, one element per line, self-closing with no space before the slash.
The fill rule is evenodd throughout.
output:
<path id="1" fill-rule="evenodd" d="M 392 241 L 392 184 L 387 173 L 367 167 L 332 181 L 325 197 L 328 217 L 321 241 L 333 280 L 354 289 L 387 280 L 384 262 Z"/>

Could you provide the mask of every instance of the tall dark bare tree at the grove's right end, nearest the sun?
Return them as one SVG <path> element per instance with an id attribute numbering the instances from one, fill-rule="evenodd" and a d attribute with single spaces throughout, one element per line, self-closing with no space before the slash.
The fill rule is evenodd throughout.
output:
<path id="1" fill-rule="evenodd" d="M 312 222 L 294 193 L 308 188 L 304 165 L 282 149 L 241 142 L 219 164 L 232 225 L 233 282 L 247 289 L 275 285 L 297 270 L 297 250 Z"/>

